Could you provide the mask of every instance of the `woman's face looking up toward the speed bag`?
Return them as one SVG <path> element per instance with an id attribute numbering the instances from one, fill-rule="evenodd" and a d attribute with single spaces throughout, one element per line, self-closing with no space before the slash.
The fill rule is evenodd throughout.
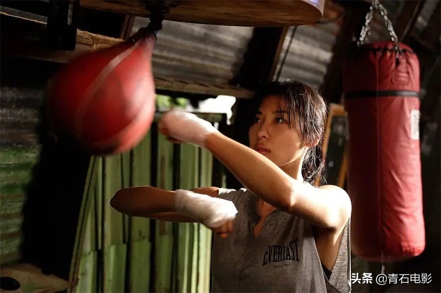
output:
<path id="1" fill-rule="evenodd" d="M 300 161 L 307 150 L 294 127 L 294 114 L 290 127 L 287 111 L 283 98 L 264 98 L 248 131 L 250 147 L 279 167 Z"/>

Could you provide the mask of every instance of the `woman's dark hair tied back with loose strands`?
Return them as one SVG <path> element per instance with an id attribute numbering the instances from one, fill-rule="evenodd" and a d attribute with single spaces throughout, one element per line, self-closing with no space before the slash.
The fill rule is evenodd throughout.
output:
<path id="1" fill-rule="evenodd" d="M 316 146 L 310 147 L 306 153 L 302 164 L 302 176 L 305 182 L 311 184 L 314 184 L 317 179 L 322 180 L 325 165 L 322 145 L 327 109 L 320 93 L 300 81 L 272 81 L 260 87 L 252 98 L 251 110 L 253 115 L 257 112 L 262 100 L 268 96 L 279 96 L 286 101 L 289 113 L 288 121 L 290 121 L 290 124 L 291 121 L 295 123 L 290 127 L 299 126 L 298 134 L 302 142 L 314 145 L 315 142 L 319 141 Z M 280 105 L 282 107 L 282 103 Z M 293 120 L 291 115 L 294 115 Z"/>

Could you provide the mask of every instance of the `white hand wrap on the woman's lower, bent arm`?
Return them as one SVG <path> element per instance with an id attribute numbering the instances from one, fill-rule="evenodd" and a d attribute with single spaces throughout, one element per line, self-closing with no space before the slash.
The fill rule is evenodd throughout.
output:
<path id="1" fill-rule="evenodd" d="M 191 217 L 207 227 L 216 228 L 236 218 L 237 209 L 230 200 L 197 194 L 189 190 L 176 190 L 176 211 Z"/>

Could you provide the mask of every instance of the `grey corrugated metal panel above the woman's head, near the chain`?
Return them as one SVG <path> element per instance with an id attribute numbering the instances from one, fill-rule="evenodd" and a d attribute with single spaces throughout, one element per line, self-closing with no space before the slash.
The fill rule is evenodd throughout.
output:
<path id="1" fill-rule="evenodd" d="M 326 5 L 329 4 L 326 2 Z M 337 4 L 325 9 L 337 17 L 324 23 L 290 27 L 285 36 L 274 79 L 277 78 L 282 66 L 278 80 L 296 79 L 316 89 L 323 83 L 327 66 L 332 59 L 332 49 L 340 32 L 344 11 L 343 7 Z M 290 45 L 294 29 L 294 37 Z M 287 55 L 283 61 L 285 53 Z"/>

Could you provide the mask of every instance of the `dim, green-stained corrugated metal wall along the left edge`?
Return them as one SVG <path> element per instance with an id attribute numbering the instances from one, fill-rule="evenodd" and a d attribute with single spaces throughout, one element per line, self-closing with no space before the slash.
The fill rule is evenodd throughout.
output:
<path id="1" fill-rule="evenodd" d="M 2 58 L 3 59 L 3 58 Z M 2 60 L 6 63 L 6 60 Z M 20 64 L 17 64 L 20 66 Z M 26 67 L 22 67 L 26 71 Z M 29 73 L 31 74 L 31 73 Z M 23 207 L 32 168 L 38 162 L 37 127 L 43 104 L 43 87 L 30 76 L 13 81 L 13 72 L 1 72 L 0 87 L 0 261 L 21 258 Z"/>

